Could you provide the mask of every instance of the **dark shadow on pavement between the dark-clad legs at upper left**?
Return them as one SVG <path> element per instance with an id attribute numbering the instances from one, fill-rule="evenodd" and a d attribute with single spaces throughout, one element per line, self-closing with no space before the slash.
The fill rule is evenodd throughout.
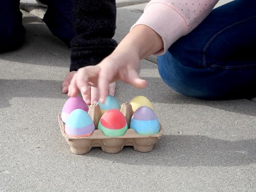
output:
<path id="1" fill-rule="evenodd" d="M 25 22 L 32 18 L 25 17 Z M 70 66 L 70 51 L 57 37 L 53 36 L 46 25 L 26 23 L 25 42 L 15 51 L 0 53 L 3 60 L 29 63 L 42 66 Z"/>

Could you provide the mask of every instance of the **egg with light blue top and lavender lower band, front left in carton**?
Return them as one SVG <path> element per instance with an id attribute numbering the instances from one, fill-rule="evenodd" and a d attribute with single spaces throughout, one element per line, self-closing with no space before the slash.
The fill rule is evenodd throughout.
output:
<path id="1" fill-rule="evenodd" d="M 72 111 L 65 125 L 65 133 L 71 137 L 88 137 L 93 134 L 94 130 L 92 118 L 81 109 Z"/>

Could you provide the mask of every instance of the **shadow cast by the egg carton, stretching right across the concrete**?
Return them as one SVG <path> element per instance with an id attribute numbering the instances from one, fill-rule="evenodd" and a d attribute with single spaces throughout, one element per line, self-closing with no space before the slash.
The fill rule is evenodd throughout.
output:
<path id="1" fill-rule="evenodd" d="M 84 155 L 129 165 L 240 166 L 256 163 L 256 140 L 227 141 L 206 136 L 163 135 L 152 152 L 139 153 L 124 147 L 118 155 L 92 148 Z"/>

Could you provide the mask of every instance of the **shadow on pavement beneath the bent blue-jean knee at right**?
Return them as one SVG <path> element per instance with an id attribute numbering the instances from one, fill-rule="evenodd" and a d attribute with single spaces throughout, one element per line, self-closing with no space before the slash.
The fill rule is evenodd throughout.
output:
<path id="1" fill-rule="evenodd" d="M 127 98 L 127 95 L 144 95 L 151 102 L 166 104 L 187 104 L 204 105 L 217 108 L 224 111 L 256 116 L 256 102 L 248 99 L 238 100 L 202 100 L 181 95 L 170 89 L 160 77 L 143 77 L 147 80 L 146 89 L 136 89 L 125 83 L 117 84 L 116 96 L 118 98 Z M 132 94 L 131 94 L 132 93 Z M 131 98 L 132 99 L 132 98 Z M 121 100 L 121 102 L 127 102 Z M 171 106 L 169 106 L 171 107 Z M 167 110 L 166 110 L 167 111 Z"/>

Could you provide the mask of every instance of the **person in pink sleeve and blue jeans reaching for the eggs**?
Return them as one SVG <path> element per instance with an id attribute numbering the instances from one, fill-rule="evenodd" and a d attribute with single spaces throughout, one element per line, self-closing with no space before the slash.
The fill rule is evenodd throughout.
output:
<path id="1" fill-rule="evenodd" d="M 100 101 L 117 79 L 145 88 L 140 60 L 158 55 L 158 70 L 177 92 L 202 99 L 256 96 L 256 2 L 236 0 L 212 10 L 217 0 L 152 0 L 117 48 L 96 66 L 80 68 L 70 97 L 88 86 Z M 148 40 L 150 39 L 150 40 Z"/>

